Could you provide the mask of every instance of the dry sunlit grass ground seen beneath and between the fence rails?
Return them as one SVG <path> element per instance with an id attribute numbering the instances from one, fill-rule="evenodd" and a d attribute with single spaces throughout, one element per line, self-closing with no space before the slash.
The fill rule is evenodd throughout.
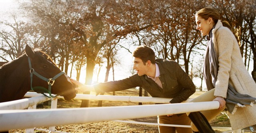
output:
<path id="1" fill-rule="evenodd" d="M 144 92 L 144 91 L 143 91 Z M 116 91 L 116 95 L 130 95 L 138 96 L 138 89 L 128 89 L 124 91 Z M 203 91 L 196 91 L 191 98 L 197 97 L 204 93 Z M 95 94 L 91 92 L 91 94 Z M 105 95 L 112 95 L 112 92 L 105 93 Z M 144 94 L 143 94 L 144 95 Z M 58 99 L 57 108 L 75 108 L 80 107 L 81 100 L 73 99 L 71 101 L 65 101 Z M 152 103 L 143 103 L 152 104 Z M 103 101 L 103 106 L 121 106 L 121 105 L 138 105 L 138 103 L 122 102 L 122 101 Z M 90 107 L 97 107 L 98 101 L 90 100 Z M 44 108 L 50 108 L 50 105 L 44 105 Z M 64 116 L 63 116 L 64 117 Z M 126 119 L 127 120 L 127 119 Z M 38 119 L 40 121 L 40 119 Z M 128 119 L 127 121 L 140 121 L 157 123 L 156 117 L 146 117 L 140 119 Z M 220 114 L 216 119 L 211 122 L 214 127 L 230 127 L 230 123 L 226 115 Z M 48 129 L 48 127 L 40 127 L 42 129 Z M 78 125 L 61 125 L 56 126 L 56 131 L 64 131 L 70 133 L 158 133 L 158 127 L 154 125 L 136 125 L 130 123 L 119 123 L 112 121 L 102 121 L 95 123 L 84 123 Z M 216 131 L 220 133 L 222 131 Z M 25 130 L 11 130 L 9 133 L 25 133 Z M 35 133 L 46 133 L 44 131 L 35 131 Z"/>

